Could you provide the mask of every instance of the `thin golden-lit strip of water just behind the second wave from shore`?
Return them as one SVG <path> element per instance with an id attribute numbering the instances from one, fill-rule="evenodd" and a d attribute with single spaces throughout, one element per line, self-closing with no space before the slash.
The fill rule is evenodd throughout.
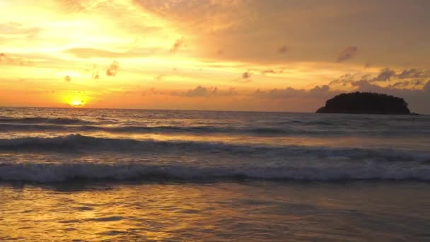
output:
<path id="1" fill-rule="evenodd" d="M 4 133 L 0 134 L 0 139 L 16 139 L 23 137 L 58 137 L 61 135 L 74 134 L 70 132 L 25 132 L 25 133 Z M 223 135 L 223 134 L 154 134 L 154 133 L 112 133 L 112 132 L 79 132 L 88 137 L 108 138 L 108 139 L 136 139 L 136 140 L 155 140 L 161 142 L 222 142 L 226 144 L 255 144 L 255 145 L 274 145 L 274 146 L 336 146 L 336 147 L 362 147 L 362 148 L 381 148 L 390 145 L 400 146 L 401 149 L 413 147 L 426 151 L 426 141 L 419 137 L 405 137 L 402 140 L 390 139 L 387 137 L 330 137 L 330 136 L 248 136 L 242 134 Z"/>

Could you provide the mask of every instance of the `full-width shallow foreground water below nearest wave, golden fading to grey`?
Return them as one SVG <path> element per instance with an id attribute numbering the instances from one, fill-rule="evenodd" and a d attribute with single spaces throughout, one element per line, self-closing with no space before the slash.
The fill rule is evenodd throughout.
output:
<path id="1" fill-rule="evenodd" d="M 423 183 L 112 185 L 0 185 L 0 240 L 391 241 L 430 225 Z"/>

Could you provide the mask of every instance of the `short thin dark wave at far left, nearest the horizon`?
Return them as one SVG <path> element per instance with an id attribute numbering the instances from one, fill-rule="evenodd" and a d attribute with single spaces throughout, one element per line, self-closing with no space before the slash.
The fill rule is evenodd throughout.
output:
<path id="1" fill-rule="evenodd" d="M 64 117 L 0 117 L 0 123 L 88 125 L 94 122 Z"/>

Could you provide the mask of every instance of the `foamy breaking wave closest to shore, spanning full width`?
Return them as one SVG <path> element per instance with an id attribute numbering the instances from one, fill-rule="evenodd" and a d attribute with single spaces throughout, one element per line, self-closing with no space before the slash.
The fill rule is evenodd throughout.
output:
<path id="1" fill-rule="evenodd" d="M 347 166 L 315 166 L 277 168 L 213 168 L 193 166 L 74 164 L 1 164 L 0 180 L 54 183 L 96 180 L 430 180 L 430 166 L 385 166 L 361 163 Z"/>

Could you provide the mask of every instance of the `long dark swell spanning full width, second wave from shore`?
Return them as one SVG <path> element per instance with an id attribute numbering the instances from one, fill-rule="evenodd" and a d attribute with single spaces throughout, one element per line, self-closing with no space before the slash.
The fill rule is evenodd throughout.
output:
<path id="1" fill-rule="evenodd" d="M 430 161 L 430 154 L 392 149 L 360 149 L 325 146 L 271 146 L 263 144 L 228 144 L 224 142 L 157 141 L 153 139 L 114 139 L 69 134 L 59 137 L 24 137 L 0 139 L 0 151 L 129 152 L 129 154 L 176 152 L 180 154 L 222 154 L 260 159 L 349 159 L 363 161 Z"/>

